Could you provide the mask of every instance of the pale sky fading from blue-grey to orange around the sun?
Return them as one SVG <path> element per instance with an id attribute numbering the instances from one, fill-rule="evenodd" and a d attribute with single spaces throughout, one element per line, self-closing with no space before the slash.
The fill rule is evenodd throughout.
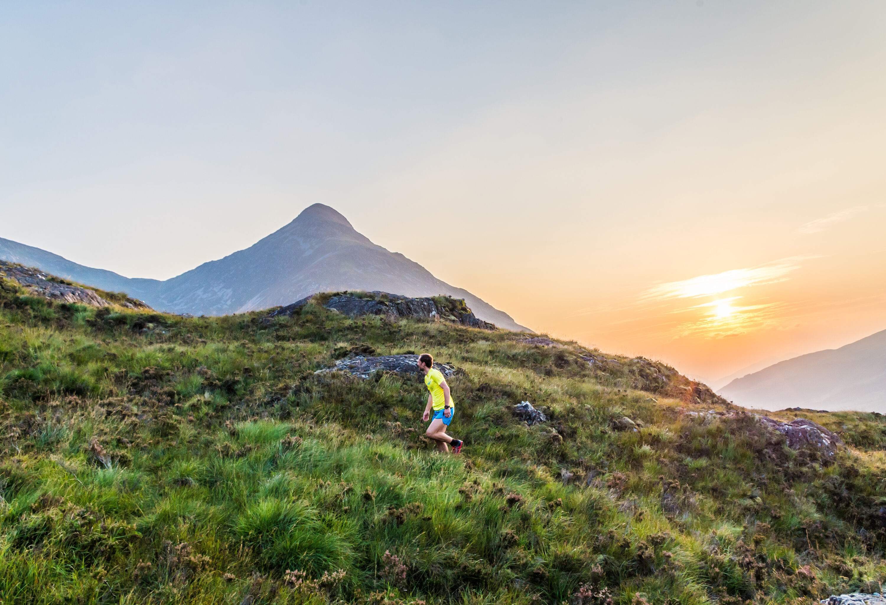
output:
<path id="1" fill-rule="evenodd" d="M 167 278 L 321 202 L 715 381 L 886 329 L 883 66 L 881 0 L 8 2 L 0 237 Z"/>

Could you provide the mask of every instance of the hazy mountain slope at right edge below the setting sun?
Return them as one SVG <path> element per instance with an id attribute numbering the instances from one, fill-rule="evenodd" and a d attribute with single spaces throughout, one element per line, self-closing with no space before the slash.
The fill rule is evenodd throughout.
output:
<path id="1" fill-rule="evenodd" d="M 745 407 L 886 413 L 886 330 L 780 361 L 736 378 L 718 393 Z"/>

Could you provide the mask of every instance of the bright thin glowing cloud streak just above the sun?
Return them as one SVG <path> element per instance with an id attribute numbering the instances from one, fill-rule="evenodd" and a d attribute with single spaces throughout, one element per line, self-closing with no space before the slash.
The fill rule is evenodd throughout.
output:
<path id="1" fill-rule="evenodd" d="M 703 296 L 715 296 L 749 286 L 784 282 L 788 279 L 789 273 L 800 268 L 800 263 L 803 260 L 810 258 L 816 257 L 794 256 L 759 267 L 730 269 L 722 273 L 698 275 L 679 282 L 659 283 L 645 291 L 641 299 L 695 299 Z"/>

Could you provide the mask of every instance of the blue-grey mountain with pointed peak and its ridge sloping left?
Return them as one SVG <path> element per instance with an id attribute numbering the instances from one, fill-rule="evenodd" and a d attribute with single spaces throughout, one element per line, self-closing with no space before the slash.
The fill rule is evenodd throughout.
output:
<path id="1" fill-rule="evenodd" d="M 40 248 L 0 238 L 0 259 L 108 291 L 124 291 L 172 313 L 222 315 L 288 305 L 322 291 L 379 290 L 465 299 L 486 322 L 528 330 L 469 291 L 431 275 L 399 252 L 373 244 L 330 206 L 315 204 L 245 250 L 165 281 L 89 268 Z M 531 330 L 528 330 L 531 331 Z"/>

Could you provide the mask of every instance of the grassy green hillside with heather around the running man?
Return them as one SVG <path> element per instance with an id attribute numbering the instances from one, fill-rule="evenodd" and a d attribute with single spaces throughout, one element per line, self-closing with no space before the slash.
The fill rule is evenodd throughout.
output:
<path id="1" fill-rule="evenodd" d="M 2 286 L 4 604 L 811 603 L 886 576 L 882 416 L 811 415 L 849 445 L 830 462 L 574 343 Z M 462 455 L 425 440 L 418 379 L 315 375 L 370 347 L 458 368 Z"/>

